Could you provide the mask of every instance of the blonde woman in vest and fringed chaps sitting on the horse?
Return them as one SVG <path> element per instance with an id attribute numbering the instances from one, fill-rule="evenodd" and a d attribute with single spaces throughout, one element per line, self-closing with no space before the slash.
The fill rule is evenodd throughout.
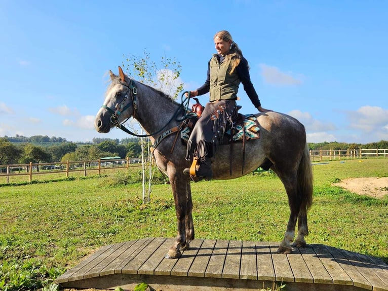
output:
<path id="1" fill-rule="evenodd" d="M 189 168 L 183 171 L 205 179 L 213 177 L 211 157 L 222 142 L 223 133 L 229 128 L 231 119 L 237 115 L 236 100 L 240 83 L 243 83 L 245 92 L 257 110 L 268 111 L 261 107 L 249 75 L 248 61 L 230 33 L 226 30 L 217 32 L 214 44 L 217 53 L 209 61 L 205 84 L 190 91 L 190 97 L 210 92 L 210 102 L 206 104 L 187 143 L 186 160 L 192 161 L 191 169 L 195 169 L 195 174 L 192 170 L 190 173 Z"/>

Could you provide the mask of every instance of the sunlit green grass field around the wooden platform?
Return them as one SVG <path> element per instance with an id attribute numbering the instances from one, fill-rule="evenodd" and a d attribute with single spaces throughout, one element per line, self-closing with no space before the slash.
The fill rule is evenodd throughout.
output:
<path id="1" fill-rule="evenodd" d="M 307 243 L 357 251 L 388 263 L 388 195 L 375 199 L 331 186 L 348 177 L 387 177 L 388 159 L 334 161 L 314 165 L 313 170 Z M 0 290 L 54 290 L 53 279 L 102 245 L 174 237 L 170 186 L 154 186 L 151 202 L 144 205 L 141 185 L 127 183 L 124 173 L 116 173 L 0 185 Z M 202 181 L 191 188 L 197 238 L 282 240 L 289 208 L 275 175 Z"/>

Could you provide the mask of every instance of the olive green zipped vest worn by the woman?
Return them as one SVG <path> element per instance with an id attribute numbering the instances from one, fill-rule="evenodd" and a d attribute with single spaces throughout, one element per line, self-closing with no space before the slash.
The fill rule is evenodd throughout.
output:
<path id="1" fill-rule="evenodd" d="M 232 74 L 231 60 L 236 53 L 231 54 L 230 60 L 224 59 L 218 62 L 217 55 L 214 54 L 210 60 L 210 101 L 220 99 L 236 99 L 239 91 L 240 79 L 236 69 Z"/>

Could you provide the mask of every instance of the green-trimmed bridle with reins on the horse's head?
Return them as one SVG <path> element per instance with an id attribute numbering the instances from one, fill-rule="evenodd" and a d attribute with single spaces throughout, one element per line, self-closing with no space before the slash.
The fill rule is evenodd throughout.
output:
<path id="1" fill-rule="evenodd" d="M 189 92 L 183 92 L 183 94 L 182 94 L 182 103 L 180 104 L 180 106 L 178 106 L 177 110 L 175 111 L 175 113 L 173 114 L 171 119 L 160 130 L 158 130 L 156 132 L 153 132 L 153 133 L 150 133 L 150 134 L 136 134 L 136 133 L 130 131 L 128 128 L 126 128 L 124 126 L 124 123 L 126 123 L 129 118 L 126 119 L 125 121 L 123 121 L 122 123 L 120 123 L 119 122 L 119 117 L 129 107 L 133 106 L 133 117 L 136 118 L 137 107 L 138 107 L 138 104 L 137 104 L 137 88 L 136 88 L 136 86 L 134 85 L 134 83 L 133 83 L 133 81 L 131 79 L 129 79 L 129 84 L 127 84 L 126 82 L 122 82 L 122 81 L 119 81 L 118 84 L 123 85 L 123 86 L 127 87 L 128 89 L 127 89 L 127 92 L 125 93 L 123 101 L 121 101 L 120 104 L 118 104 L 116 106 L 117 109 L 113 110 L 112 108 L 106 106 L 105 104 L 102 104 L 102 106 L 101 106 L 102 108 L 105 108 L 109 113 L 111 113 L 110 123 L 113 123 L 116 128 L 119 128 L 119 129 L 123 130 L 124 132 L 126 132 L 128 134 L 131 134 L 131 135 L 134 135 L 134 136 L 137 136 L 137 137 L 149 137 L 149 136 L 152 136 L 154 134 L 158 134 L 158 133 L 162 132 L 162 130 L 164 130 L 167 127 L 167 125 L 173 119 L 176 119 L 177 121 L 183 121 L 186 118 L 186 114 L 184 114 L 181 119 L 177 119 L 177 117 L 178 117 L 178 115 L 179 115 L 179 113 L 181 111 L 183 113 L 187 112 L 188 103 L 189 103 L 188 100 L 190 99 L 190 93 Z M 183 100 L 183 96 L 185 95 L 185 93 L 188 93 L 187 100 Z M 129 97 L 131 97 L 131 101 L 128 102 L 128 104 L 124 106 L 125 102 L 128 100 Z M 186 103 L 186 105 L 184 103 Z M 184 110 L 185 107 L 186 107 L 186 111 Z"/>

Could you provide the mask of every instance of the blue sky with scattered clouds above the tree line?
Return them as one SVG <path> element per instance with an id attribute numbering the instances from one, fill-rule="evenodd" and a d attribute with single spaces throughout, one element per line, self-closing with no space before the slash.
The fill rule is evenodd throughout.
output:
<path id="1" fill-rule="evenodd" d="M 262 106 L 298 118 L 307 141 L 388 140 L 387 11 L 358 0 L 0 0 L 0 136 L 128 137 L 93 126 L 107 71 L 146 50 L 175 58 L 195 90 L 225 29 Z M 256 113 L 242 86 L 239 96 Z"/>

